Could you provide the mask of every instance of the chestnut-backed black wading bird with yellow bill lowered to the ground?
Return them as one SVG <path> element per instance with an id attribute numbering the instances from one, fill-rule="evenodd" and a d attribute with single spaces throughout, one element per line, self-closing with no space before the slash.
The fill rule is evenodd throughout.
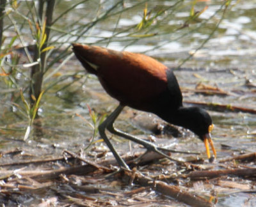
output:
<path id="1" fill-rule="evenodd" d="M 148 151 L 155 151 L 170 158 L 163 152 L 168 151 L 167 149 L 114 127 L 116 118 L 125 106 L 156 114 L 172 125 L 191 130 L 204 142 L 209 160 L 212 159 L 209 145 L 216 158 L 216 150 L 211 139 L 211 116 L 200 107 L 183 106 L 182 93 L 173 70 L 140 53 L 120 52 L 80 43 L 72 43 L 72 50 L 86 71 L 96 75 L 105 91 L 119 102 L 118 107 L 99 125 L 99 134 L 120 167 L 129 169 L 109 141 L 106 130 L 142 144 Z"/>

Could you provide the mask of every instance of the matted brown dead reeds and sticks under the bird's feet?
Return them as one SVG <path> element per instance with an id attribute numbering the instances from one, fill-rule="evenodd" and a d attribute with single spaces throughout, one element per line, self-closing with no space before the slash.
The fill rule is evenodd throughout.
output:
<path id="1" fill-rule="evenodd" d="M 256 168 L 246 166 L 248 160 L 253 158 L 255 161 L 255 153 L 226 158 L 226 161 L 215 164 L 175 163 L 155 153 L 142 157 L 142 153 L 125 155 L 125 162 L 138 166 L 132 171 L 118 171 L 113 158 L 93 162 L 81 159 L 70 151 L 65 153 L 68 155 L 62 159 L 30 160 L 30 165 L 35 167 L 30 170 L 26 169 L 29 165 L 27 160 L 2 164 L 0 199 L 8 205 L 22 197 L 46 194 L 45 200 L 38 206 L 150 206 L 156 203 L 214 206 L 218 194 L 223 191 L 232 194 L 255 190 Z M 134 163 L 134 158 L 138 157 L 144 160 Z M 76 159 L 83 164 L 72 165 Z M 240 165 L 234 165 L 233 160 L 239 160 Z M 53 167 L 57 162 L 58 169 L 56 165 Z M 146 166 L 141 166 L 145 163 Z M 49 164 L 52 169 L 49 169 Z M 223 164 L 226 169 L 223 169 Z"/>

